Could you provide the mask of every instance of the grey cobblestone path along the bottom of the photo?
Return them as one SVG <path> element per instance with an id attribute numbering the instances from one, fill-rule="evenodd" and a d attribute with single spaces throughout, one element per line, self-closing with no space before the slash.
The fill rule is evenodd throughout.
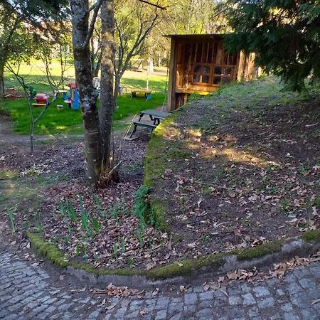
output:
<path id="1" fill-rule="evenodd" d="M 61 279 L 60 279 L 61 280 Z M 144 299 L 97 297 L 53 279 L 43 267 L 0 254 L 0 319 L 320 319 L 320 264 L 298 267 L 283 282 L 235 282 L 220 291 L 193 287 Z M 107 298 L 107 299 L 105 299 Z"/>

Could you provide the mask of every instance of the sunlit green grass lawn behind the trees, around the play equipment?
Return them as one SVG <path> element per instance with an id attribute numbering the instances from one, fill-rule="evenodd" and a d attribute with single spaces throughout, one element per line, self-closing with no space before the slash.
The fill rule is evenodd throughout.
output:
<path id="1" fill-rule="evenodd" d="M 53 62 L 53 76 L 58 80 L 59 65 Z M 31 65 L 22 65 L 20 74 L 26 78 L 26 83 L 32 85 L 37 92 L 52 92 L 51 87 L 43 75 L 43 66 L 34 60 Z M 74 69 L 70 65 L 68 69 L 70 81 L 74 81 Z M 153 91 L 151 100 L 146 101 L 143 97 L 131 98 L 133 88 L 145 88 L 146 78 L 149 78 L 149 89 Z M 7 87 L 18 86 L 12 75 L 6 73 L 5 83 Z M 114 128 L 121 129 L 125 123 L 119 120 L 134 116 L 137 112 L 152 109 L 163 105 L 165 100 L 164 89 L 166 86 L 166 69 L 156 69 L 154 73 L 146 75 L 146 72 L 127 71 L 122 78 L 125 93 L 119 96 L 118 109 L 114 112 Z M 99 102 L 98 102 L 99 103 Z M 57 110 L 57 105 L 64 105 L 63 110 Z M 14 130 L 18 134 L 28 134 L 30 117 L 26 100 L 6 100 L 0 104 L 0 110 L 10 115 L 14 122 Z M 33 108 L 35 116 L 41 112 L 40 108 Z M 80 110 L 70 110 L 60 97 L 56 100 L 36 124 L 35 134 L 80 134 L 83 132 L 82 117 Z"/>

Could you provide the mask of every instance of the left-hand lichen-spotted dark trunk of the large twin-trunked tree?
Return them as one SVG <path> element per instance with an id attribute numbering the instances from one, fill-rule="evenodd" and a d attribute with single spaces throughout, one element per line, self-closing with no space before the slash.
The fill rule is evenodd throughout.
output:
<path id="1" fill-rule="evenodd" d="M 87 177 L 95 182 L 102 172 L 102 139 L 97 111 L 97 92 L 92 83 L 92 65 L 89 41 L 87 0 L 70 0 L 73 23 L 73 56 L 75 80 L 80 95 L 82 119 L 85 127 L 85 157 Z"/>

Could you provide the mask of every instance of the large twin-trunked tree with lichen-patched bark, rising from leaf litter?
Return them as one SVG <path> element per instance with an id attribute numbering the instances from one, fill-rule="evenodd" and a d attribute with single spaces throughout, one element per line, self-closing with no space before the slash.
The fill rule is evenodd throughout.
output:
<path id="1" fill-rule="evenodd" d="M 139 0 L 146 4 L 149 1 Z M 152 6 L 158 8 L 158 4 Z M 93 86 L 90 39 L 95 30 L 95 22 L 101 10 L 102 21 L 102 63 L 100 112 L 97 110 L 97 91 Z M 92 182 L 109 178 L 112 172 L 110 140 L 114 100 L 114 2 L 97 0 L 89 6 L 89 0 L 70 0 L 73 24 L 73 57 L 75 80 L 80 95 L 82 119 L 85 126 L 85 156 L 87 177 Z M 143 29 L 139 29 L 143 30 Z M 141 41 L 137 43 L 140 46 Z M 135 50 L 136 48 L 134 48 Z M 117 85 L 116 85 L 117 87 Z M 117 92 L 117 91 L 116 91 Z"/>

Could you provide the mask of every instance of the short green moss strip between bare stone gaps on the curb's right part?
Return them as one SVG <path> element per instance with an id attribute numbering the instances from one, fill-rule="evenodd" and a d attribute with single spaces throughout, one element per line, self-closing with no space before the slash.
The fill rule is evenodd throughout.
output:
<path id="1" fill-rule="evenodd" d="M 279 252 L 282 247 L 283 240 L 275 240 L 272 242 L 264 243 L 263 245 L 257 245 L 243 250 L 233 250 L 233 253 L 239 261 L 252 260 L 264 255 L 269 255 L 274 252 Z"/>

